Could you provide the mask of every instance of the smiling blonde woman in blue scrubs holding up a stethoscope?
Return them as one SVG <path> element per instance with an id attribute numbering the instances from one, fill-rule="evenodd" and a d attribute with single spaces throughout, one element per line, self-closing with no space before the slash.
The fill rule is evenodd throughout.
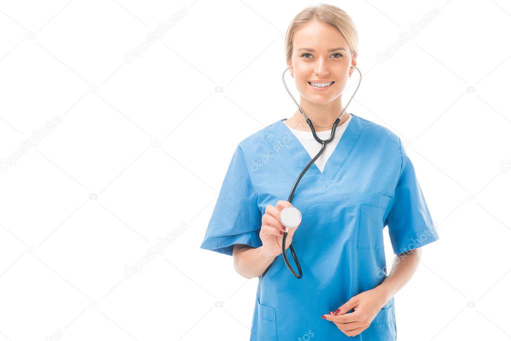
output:
<path id="1" fill-rule="evenodd" d="M 241 141 L 223 180 L 201 248 L 232 255 L 236 272 L 259 278 L 252 341 L 395 341 L 393 296 L 421 247 L 438 239 L 402 140 L 342 107 L 357 44 L 352 19 L 335 6 L 295 16 L 286 71 L 299 109 Z M 331 135 L 328 144 L 316 131 Z M 283 200 L 290 189 L 292 204 Z M 291 206 L 301 214 L 287 223 Z M 385 226 L 403 258 L 382 276 Z M 293 250 L 303 274 L 287 261 L 291 252 L 298 265 Z"/>

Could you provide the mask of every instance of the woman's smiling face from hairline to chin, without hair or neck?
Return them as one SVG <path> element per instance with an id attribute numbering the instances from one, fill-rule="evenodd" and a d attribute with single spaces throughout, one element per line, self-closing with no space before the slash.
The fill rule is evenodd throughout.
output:
<path id="1" fill-rule="evenodd" d="M 311 21 L 295 31 L 288 66 L 293 66 L 298 92 L 309 102 L 324 105 L 336 99 L 351 75 L 350 65 L 357 65 L 356 56 L 336 28 Z M 327 83 L 331 85 L 324 87 Z"/>

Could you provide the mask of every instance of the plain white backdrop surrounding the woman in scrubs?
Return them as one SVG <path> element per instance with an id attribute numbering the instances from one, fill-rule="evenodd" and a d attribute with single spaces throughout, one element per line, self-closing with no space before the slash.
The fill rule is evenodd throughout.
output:
<path id="1" fill-rule="evenodd" d="M 330 4 L 360 35 L 348 111 L 408 141 L 440 235 L 396 296 L 399 340 L 511 338 L 511 4 Z M 249 338 L 257 279 L 199 245 L 237 144 L 296 110 L 283 37 L 309 5 L 0 3 L 0 341 Z"/>

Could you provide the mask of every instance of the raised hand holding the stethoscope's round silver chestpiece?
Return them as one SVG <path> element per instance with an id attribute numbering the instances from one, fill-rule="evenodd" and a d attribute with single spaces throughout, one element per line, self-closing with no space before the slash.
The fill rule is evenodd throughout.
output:
<path id="1" fill-rule="evenodd" d="M 284 208 L 293 206 L 290 202 L 279 200 L 276 206 L 268 205 L 262 218 L 259 237 L 263 242 L 264 253 L 268 257 L 275 258 L 282 253 L 282 239 L 286 229 L 281 222 L 281 212 Z M 298 225 L 299 226 L 299 225 Z M 293 235 L 298 227 L 289 229 L 286 237 L 286 250 L 293 241 Z"/>

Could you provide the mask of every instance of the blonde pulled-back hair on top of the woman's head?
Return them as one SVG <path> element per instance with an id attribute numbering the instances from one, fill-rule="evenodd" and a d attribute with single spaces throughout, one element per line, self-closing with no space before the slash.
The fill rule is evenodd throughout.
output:
<path id="1" fill-rule="evenodd" d="M 295 31 L 300 26 L 313 20 L 326 23 L 327 25 L 333 26 L 339 30 L 350 46 L 352 54 L 357 55 L 358 32 L 352 18 L 339 7 L 328 4 L 320 4 L 317 6 L 307 7 L 300 13 L 296 14 L 289 24 L 285 40 L 286 63 L 291 60 L 293 55 L 293 35 Z"/>

